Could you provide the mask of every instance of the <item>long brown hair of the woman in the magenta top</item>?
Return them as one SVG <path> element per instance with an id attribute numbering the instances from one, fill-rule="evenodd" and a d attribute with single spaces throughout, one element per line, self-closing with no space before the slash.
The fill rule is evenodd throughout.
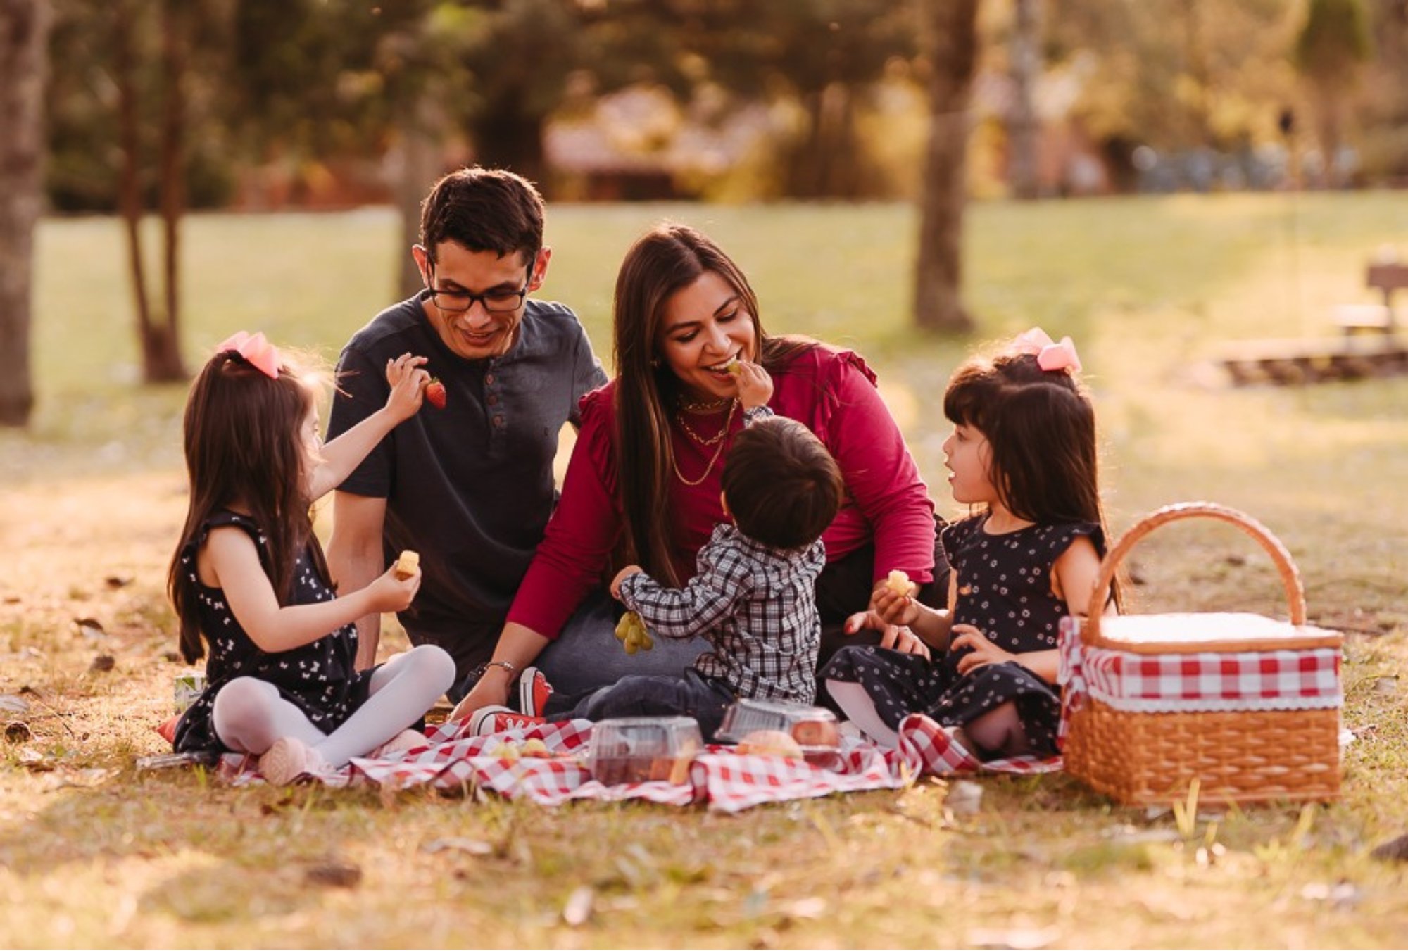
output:
<path id="1" fill-rule="evenodd" d="M 758 295 L 743 272 L 710 238 L 687 225 L 662 224 L 627 252 L 617 274 L 612 353 L 617 369 L 617 485 L 625 515 L 627 557 L 667 585 L 677 585 L 670 559 L 670 411 L 679 380 L 658 360 L 665 304 L 705 272 L 724 279 L 753 321 L 760 363 L 769 370 L 817 346 L 798 336 L 767 336 Z"/>

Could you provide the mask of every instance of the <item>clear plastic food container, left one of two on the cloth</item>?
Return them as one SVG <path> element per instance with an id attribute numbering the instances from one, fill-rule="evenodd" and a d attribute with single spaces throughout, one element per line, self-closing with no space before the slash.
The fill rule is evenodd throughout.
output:
<path id="1" fill-rule="evenodd" d="M 601 720 L 591 729 L 591 778 L 608 786 L 622 782 L 683 784 L 690 762 L 704 747 L 700 725 L 689 716 L 628 716 Z"/>

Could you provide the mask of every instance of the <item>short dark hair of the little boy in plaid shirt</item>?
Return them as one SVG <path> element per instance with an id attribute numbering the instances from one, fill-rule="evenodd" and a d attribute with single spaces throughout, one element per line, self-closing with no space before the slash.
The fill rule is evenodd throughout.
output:
<path id="1" fill-rule="evenodd" d="M 821 440 L 783 416 L 738 433 L 722 485 L 738 530 L 773 549 L 804 549 L 819 539 L 845 492 L 841 468 Z"/>

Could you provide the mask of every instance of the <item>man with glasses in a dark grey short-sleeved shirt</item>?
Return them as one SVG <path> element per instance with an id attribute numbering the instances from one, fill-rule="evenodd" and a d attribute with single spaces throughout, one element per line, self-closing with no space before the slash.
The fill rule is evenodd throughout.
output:
<path id="1" fill-rule="evenodd" d="M 577 401 L 607 381 L 576 315 L 528 294 L 552 249 L 543 204 L 525 179 L 460 169 L 421 207 L 411 249 L 425 288 L 358 331 L 338 362 L 328 438 L 386 404 L 383 367 L 428 357 L 445 408 L 427 405 L 367 456 L 334 495 L 328 563 L 344 589 L 421 554 L 424 581 L 400 619 L 411 643 L 456 664 L 452 699 L 490 658 L 504 615 L 556 501 L 552 463 Z M 380 616 L 358 622 L 358 665 L 376 658 Z"/>

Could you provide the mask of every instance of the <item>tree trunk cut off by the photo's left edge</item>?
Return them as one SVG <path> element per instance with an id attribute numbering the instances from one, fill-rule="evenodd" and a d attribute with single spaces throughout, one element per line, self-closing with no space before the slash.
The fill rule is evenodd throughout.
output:
<path id="1" fill-rule="evenodd" d="M 30 324 L 44 159 L 49 0 L 0 0 L 0 426 L 34 409 Z"/>

